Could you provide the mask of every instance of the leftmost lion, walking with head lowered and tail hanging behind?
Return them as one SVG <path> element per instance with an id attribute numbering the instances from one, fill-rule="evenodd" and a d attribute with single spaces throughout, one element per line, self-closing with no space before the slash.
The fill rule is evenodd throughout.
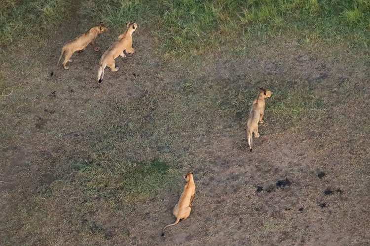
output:
<path id="1" fill-rule="evenodd" d="M 80 36 L 72 39 L 68 43 L 66 43 L 62 48 L 62 54 L 59 57 L 59 61 L 56 66 L 58 66 L 63 54 L 64 54 L 64 62 L 63 67 L 64 69 L 68 69 L 69 67 L 66 65 L 67 62 L 72 62 L 70 59 L 74 52 L 76 51 L 83 51 L 85 50 L 86 46 L 91 44 L 94 51 L 99 51 L 100 48 L 95 46 L 95 40 L 100 33 L 108 31 L 108 28 L 101 22 L 99 26 L 93 27 L 89 31 L 82 33 Z M 53 74 L 53 73 L 52 73 Z M 51 74 L 51 75 L 52 75 Z"/>

